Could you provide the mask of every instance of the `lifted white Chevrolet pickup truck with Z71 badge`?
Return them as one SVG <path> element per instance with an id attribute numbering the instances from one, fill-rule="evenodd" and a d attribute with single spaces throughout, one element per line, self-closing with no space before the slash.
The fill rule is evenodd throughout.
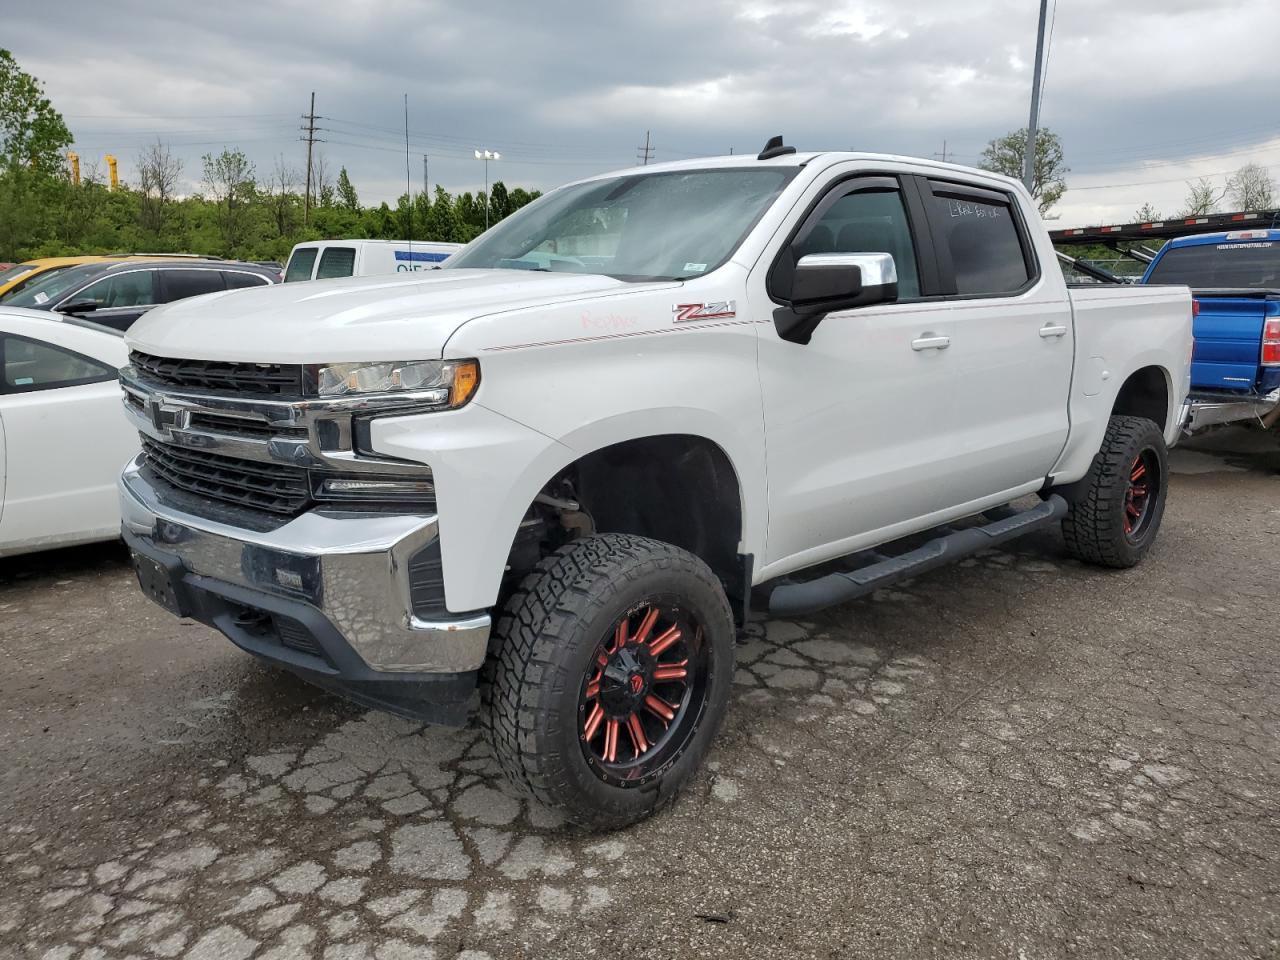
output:
<path id="1" fill-rule="evenodd" d="M 1192 302 L 1068 292 L 1014 180 L 776 138 L 570 184 L 412 279 L 160 307 L 129 346 L 146 593 L 371 707 L 462 723 L 479 689 L 507 773 L 611 828 L 705 755 L 735 623 L 1059 521 L 1137 563 Z"/>

